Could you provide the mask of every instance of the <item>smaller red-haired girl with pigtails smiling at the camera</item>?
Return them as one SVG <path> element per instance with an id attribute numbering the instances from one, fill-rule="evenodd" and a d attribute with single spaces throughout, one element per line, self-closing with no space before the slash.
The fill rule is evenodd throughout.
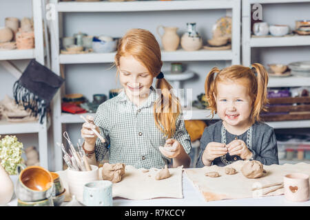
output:
<path id="1" fill-rule="evenodd" d="M 273 128 L 260 122 L 260 111 L 267 104 L 268 74 L 258 63 L 252 67 L 214 67 L 207 75 L 209 109 L 221 120 L 205 128 L 197 167 L 226 166 L 240 159 L 279 163 Z"/>

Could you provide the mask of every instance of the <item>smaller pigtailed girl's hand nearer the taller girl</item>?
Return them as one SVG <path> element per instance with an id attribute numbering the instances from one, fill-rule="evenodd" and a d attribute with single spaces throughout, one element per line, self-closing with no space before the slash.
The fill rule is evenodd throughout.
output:
<path id="1" fill-rule="evenodd" d="M 209 142 L 205 147 L 205 151 L 203 152 L 203 164 L 206 166 L 211 165 L 211 162 L 216 159 L 216 157 L 220 157 L 222 155 L 227 154 L 226 144 L 218 143 L 218 142 Z"/>

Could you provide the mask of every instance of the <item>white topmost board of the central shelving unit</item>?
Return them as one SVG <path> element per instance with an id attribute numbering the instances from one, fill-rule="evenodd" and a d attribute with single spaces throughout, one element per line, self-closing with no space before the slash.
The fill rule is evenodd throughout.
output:
<path id="1" fill-rule="evenodd" d="M 165 10 L 207 10 L 233 8 L 234 1 L 126 1 L 59 2 L 58 12 L 147 12 Z"/>

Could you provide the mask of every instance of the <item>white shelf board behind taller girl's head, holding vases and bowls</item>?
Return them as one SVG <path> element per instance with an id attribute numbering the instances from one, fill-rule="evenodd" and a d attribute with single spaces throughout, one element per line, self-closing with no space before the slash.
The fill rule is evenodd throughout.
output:
<path id="1" fill-rule="evenodd" d="M 113 63 L 115 54 L 116 52 L 106 54 L 59 54 L 59 63 Z M 175 52 L 162 52 L 162 61 L 231 61 L 232 57 L 231 50 L 187 52 L 180 49 Z"/>

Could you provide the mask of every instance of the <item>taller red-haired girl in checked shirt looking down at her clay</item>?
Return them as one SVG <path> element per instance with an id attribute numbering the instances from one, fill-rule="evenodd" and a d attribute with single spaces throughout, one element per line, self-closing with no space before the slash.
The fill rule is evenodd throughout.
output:
<path id="1" fill-rule="evenodd" d="M 190 137 L 178 99 L 169 92 L 172 87 L 161 72 L 161 49 L 154 35 L 142 29 L 127 32 L 118 45 L 115 64 L 123 91 L 103 102 L 81 129 L 90 163 L 100 162 L 109 151 L 111 164 L 163 168 L 172 158 L 175 167 L 189 166 Z M 91 129 L 100 132 L 105 142 Z"/>

